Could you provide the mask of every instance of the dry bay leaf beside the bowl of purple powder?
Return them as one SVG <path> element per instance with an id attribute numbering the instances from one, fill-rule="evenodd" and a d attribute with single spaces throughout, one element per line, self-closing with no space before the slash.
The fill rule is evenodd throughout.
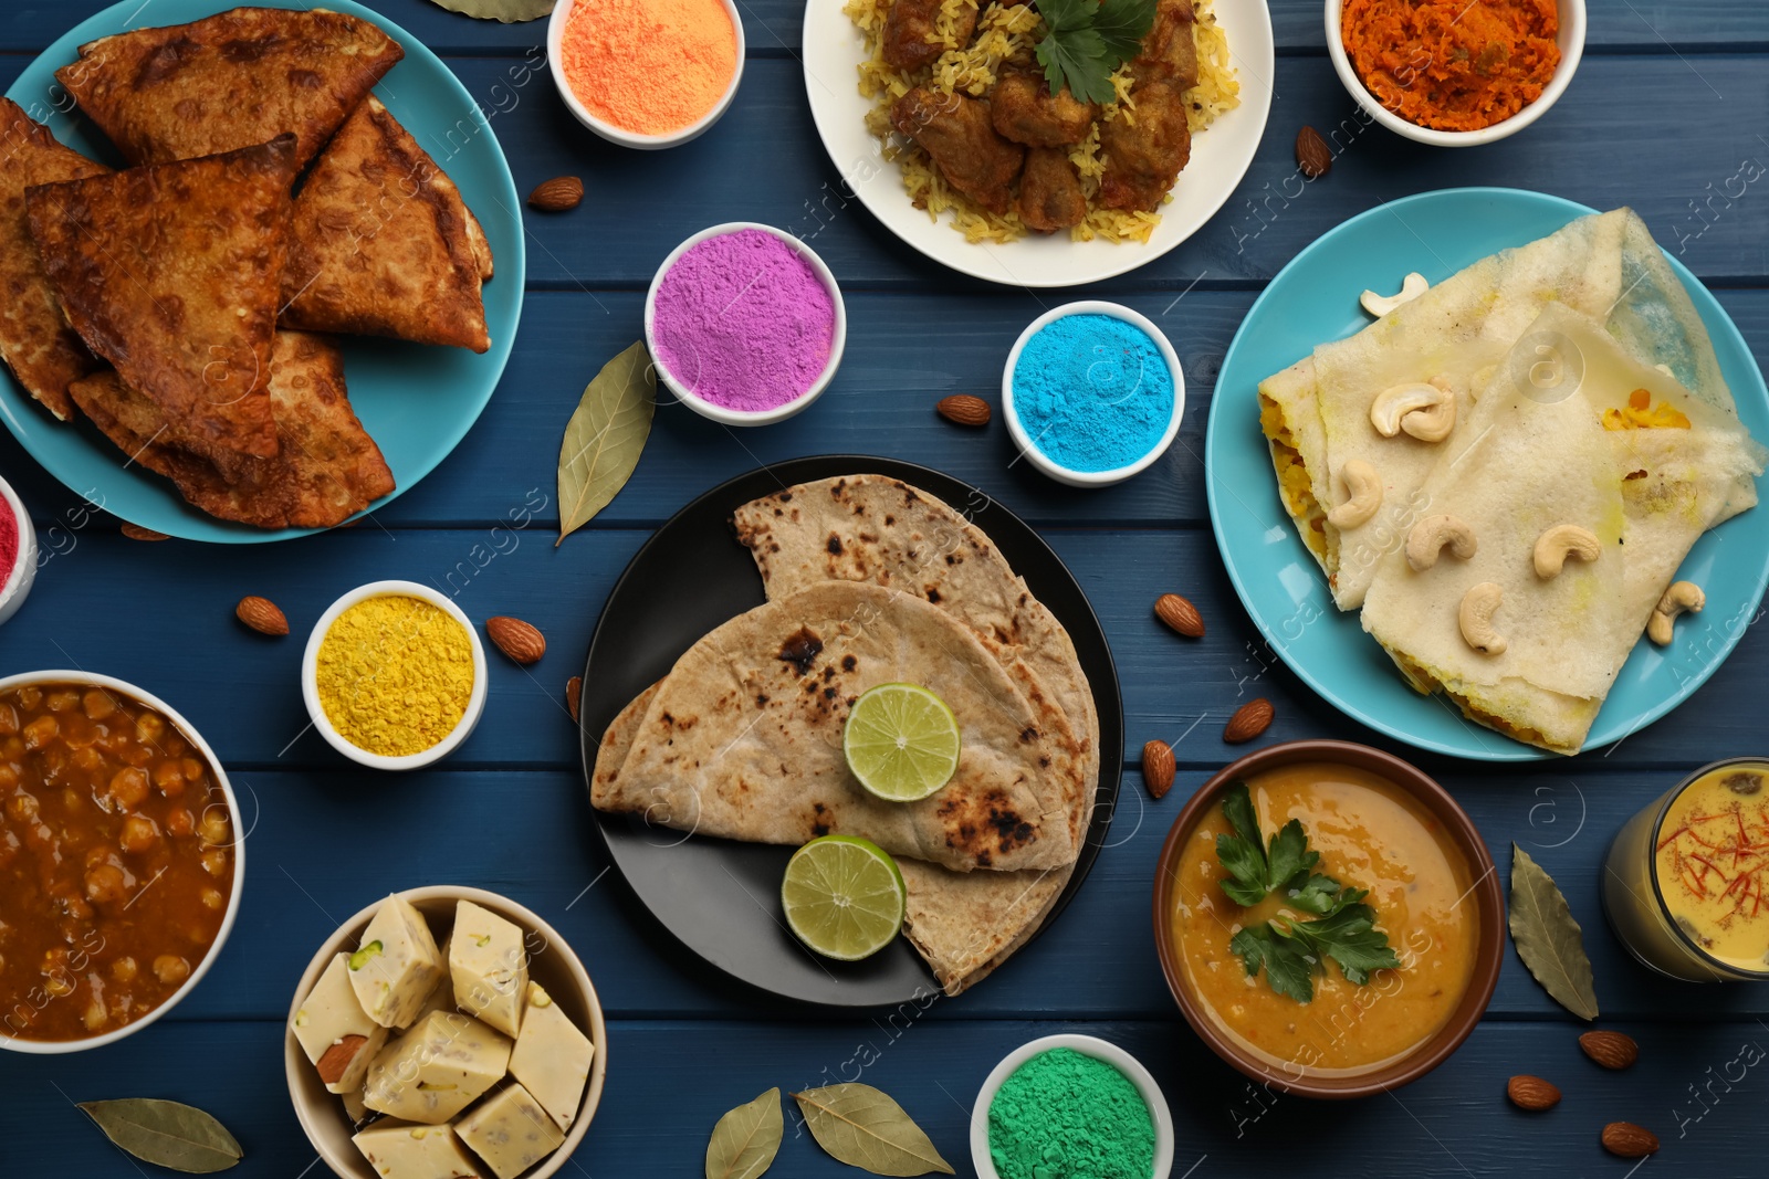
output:
<path id="1" fill-rule="evenodd" d="M 554 548 L 626 486 L 651 437 L 656 389 L 644 341 L 603 364 L 584 389 L 559 445 L 559 539 Z"/>

